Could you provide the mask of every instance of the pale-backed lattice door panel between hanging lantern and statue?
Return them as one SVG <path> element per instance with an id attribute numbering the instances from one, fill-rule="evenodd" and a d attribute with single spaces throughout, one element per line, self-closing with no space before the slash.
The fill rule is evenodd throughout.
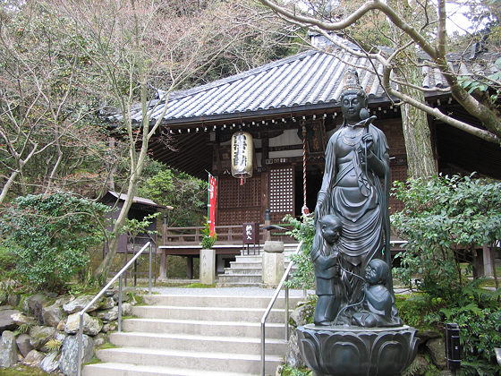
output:
<path id="1" fill-rule="evenodd" d="M 272 222 L 294 214 L 294 169 L 274 168 L 269 172 L 269 211 Z"/>

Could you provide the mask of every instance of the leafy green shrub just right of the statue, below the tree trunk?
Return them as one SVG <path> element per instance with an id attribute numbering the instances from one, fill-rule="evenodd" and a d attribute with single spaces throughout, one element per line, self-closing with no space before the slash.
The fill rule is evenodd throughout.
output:
<path id="1" fill-rule="evenodd" d="M 397 255 L 395 276 L 420 291 L 454 299 L 465 283 L 463 253 L 501 239 L 501 183 L 469 176 L 432 176 L 395 182 L 393 195 L 405 209 L 391 216 L 397 235 L 408 241 Z M 463 250 L 463 251 L 462 251 Z M 464 259 L 464 260 L 462 260 Z"/>

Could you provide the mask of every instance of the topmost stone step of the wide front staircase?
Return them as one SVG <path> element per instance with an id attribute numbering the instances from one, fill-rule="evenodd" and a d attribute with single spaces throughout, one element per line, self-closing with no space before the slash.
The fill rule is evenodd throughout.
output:
<path id="1" fill-rule="evenodd" d="M 300 297 L 289 297 L 289 306 L 300 302 Z M 231 295 L 143 295 L 143 302 L 150 305 L 181 305 L 184 307 L 217 307 L 217 308 L 267 308 L 271 296 L 231 296 Z M 284 296 L 276 298 L 273 306 L 283 309 Z"/>

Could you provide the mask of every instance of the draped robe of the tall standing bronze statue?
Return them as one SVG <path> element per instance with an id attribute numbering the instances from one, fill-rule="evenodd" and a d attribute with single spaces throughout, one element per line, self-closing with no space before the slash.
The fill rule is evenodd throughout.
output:
<path id="1" fill-rule="evenodd" d="M 341 283 L 344 292 L 339 296 L 343 312 L 363 301 L 361 275 L 370 260 L 382 258 L 382 249 L 385 245 L 384 224 L 386 221 L 387 206 L 385 193 L 378 176 L 369 167 L 361 164 L 361 157 L 357 152 L 358 143 L 352 146 L 343 142 L 343 125 L 337 130 L 327 143 L 326 167 L 322 186 L 318 192 L 317 208 L 315 212 L 316 235 L 311 250 L 311 258 L 315 260 L 322 252 L 319 218 L 327 214 L 335 214 L 343 222 L 343 230 L 337 244 L 341 267 Z M 364 130 L 372 135 L 372 152 L 385 168 L 389 169 L 388 144 L 386 136 L 377 127 L 369 124 Z M 338 171 L 336 150 L 344 148 L 343 167 Z M 346 150 L 351 148 L 351 150 Z M 349 162 L 346 162 L 350 159 Z M 346 175 L 355 175 L 356 183 L 352 186 L 344 184 Z M 341 184 L 340 184 L 341 182 Z M 343 186 L 340 186 L 343 185 Z M 349 320 L 349 319 L 348 319 Z"/>

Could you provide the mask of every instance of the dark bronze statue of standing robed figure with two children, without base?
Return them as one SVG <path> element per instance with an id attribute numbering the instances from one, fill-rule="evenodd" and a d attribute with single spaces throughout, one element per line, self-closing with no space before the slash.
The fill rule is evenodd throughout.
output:
<path id="1" fill-rule="evenodd" d="M 399 326 L 389 268 L 388 144 L 372 124 L 376 116 L 369 117 L 367 96 L 354 70 L 344 78 L 341 110 L 344 122 L 328 141 L 315 208 L 314 322 Z"/>

